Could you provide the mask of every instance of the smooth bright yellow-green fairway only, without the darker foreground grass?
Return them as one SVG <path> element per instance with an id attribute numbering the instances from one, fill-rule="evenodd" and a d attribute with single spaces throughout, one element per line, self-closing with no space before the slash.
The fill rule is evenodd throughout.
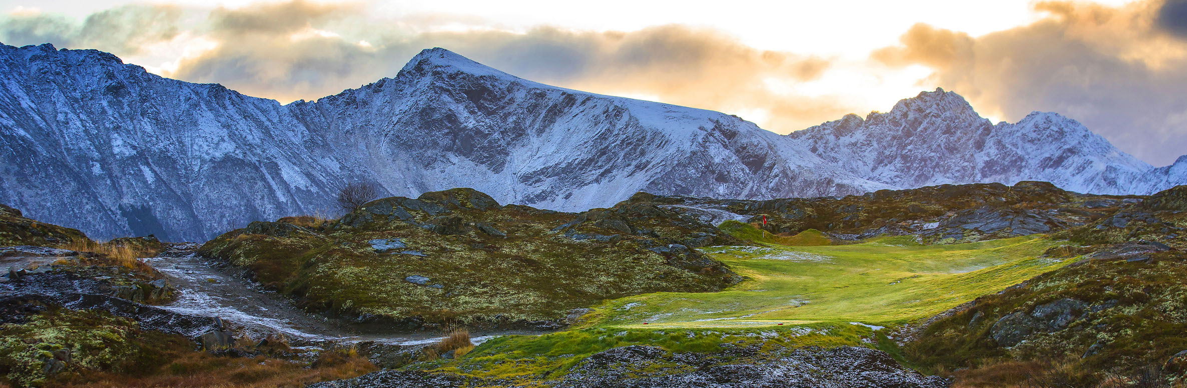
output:
<path id="1" fill-rule="evenodd" d="M 667 292 L 611 300 L 597 309 L 588 325 L 903 324 L 1072 262 L 1039 257 L 1059 244 L 1015 237 L 923 246 L 912 237 L 883 237 L 849 246 L 711 247 L 703 250 L 747 280 L 723 292 Z"/>

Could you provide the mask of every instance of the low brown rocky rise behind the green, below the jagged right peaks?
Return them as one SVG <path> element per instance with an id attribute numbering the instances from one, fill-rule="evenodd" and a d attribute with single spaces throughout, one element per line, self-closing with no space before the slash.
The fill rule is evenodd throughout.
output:
<path id="1" fill-rule="evenodd" d="M 1125 212 L 1118 210 L 1129 209 L 1142 198 L 1081 195 L 1046 182 L 1020 182 L 1013 186 L 970 184 L 880 190 L 839 198 L 742 201 L 661 196 L 654 201 L 692 215 L 723 211 L 783 236 L 812 229 L 836 240 L 915 235 L 922 241 L 956 243 L 1055 233 L 1106 217 L 1124 217 Z"/>

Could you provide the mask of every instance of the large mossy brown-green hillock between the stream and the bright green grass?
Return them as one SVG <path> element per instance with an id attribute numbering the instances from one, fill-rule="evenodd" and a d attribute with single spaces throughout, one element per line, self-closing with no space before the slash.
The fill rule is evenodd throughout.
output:
<path id="1" fill-rule="evenodd" d="M 452 189 L 372 201 L 315 228 L 252 223 L 199 253 L 307 310 L 360 322 L 556 327 L 605 299 L 737 282 L 692 249 L 737 242 L 649 204 L 569 214 Z"/>

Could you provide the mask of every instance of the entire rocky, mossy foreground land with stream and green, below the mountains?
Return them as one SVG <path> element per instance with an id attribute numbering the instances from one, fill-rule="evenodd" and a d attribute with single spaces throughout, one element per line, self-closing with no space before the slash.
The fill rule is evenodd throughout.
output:
<path id="1" fill-rule="evenodd" d="M 337 220 L 254 222 L 201 249 L 153 237 L 97 243 L 0 210 L 14 236 L 0 248 L 12 267 L 0 276 L 0 386 L 1187 381 L 1187 186 L 1150 196 L 1036 182 L 772 201 L 636 193 L 583 212 L 453 189 L 372 201 Z M 858 263 L 870 267 L 837 275 Z M 449 344 L 455 335 L 437 338 L 446 326 L 547 331 Z"/>

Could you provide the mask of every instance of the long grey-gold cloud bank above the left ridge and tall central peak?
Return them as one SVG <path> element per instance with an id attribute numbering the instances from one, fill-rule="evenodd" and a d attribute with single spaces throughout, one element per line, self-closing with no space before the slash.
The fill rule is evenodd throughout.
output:
<path id="1" fill-rule="evenodd" d="M 601 32 L 541 26 L 526 32 L 432 32 L 419 17 L 373 20 L 360 4 L 300 0 L 207 9 L 199 24 L 183 28 L 179 20 L 192 18 L 191 13 L 128 6 L 95 13 L 81 24 L 50 14 L 14 15 L 0 36 L 132 56 L 150 44 L 169 43 L 184 30 L 212 49 L 159 66 L 169 69 L 163 75 L 222 83 L 285 102 L 395 76 L 420 50 L 442 46 L 538 82 L 754 113 L 747 119 L 763 119 L 766 128 L 783 133 L 855 110 L 842 98 L 796 96 L 772 90 L 766 82 L 815 79 L 833 65 L 831 58 L 757 50 L 707 28 L 667 25 Z"/>

